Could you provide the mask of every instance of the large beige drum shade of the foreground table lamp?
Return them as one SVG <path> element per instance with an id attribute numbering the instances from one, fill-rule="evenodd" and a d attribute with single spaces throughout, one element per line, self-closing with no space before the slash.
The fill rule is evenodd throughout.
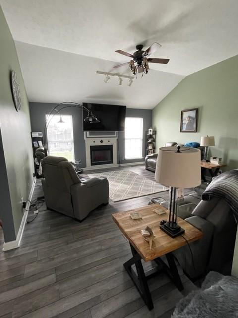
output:
<path id="1" fill-rule="evenodd" d="M 155 180 L 165 186 L 192 188 L 201 184 L 201 153 L 199 149 L 161 147 Z"/>

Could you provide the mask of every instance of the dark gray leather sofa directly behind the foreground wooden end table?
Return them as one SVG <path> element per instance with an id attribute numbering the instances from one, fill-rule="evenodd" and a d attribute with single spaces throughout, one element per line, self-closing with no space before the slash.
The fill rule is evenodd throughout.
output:
<path id="1" fill-rule="evenodd" d="M 191 251 L 186 245 L 174 252 L 184 272 L 191 278 L 210 270 L 230 274 L 237 224 L 226 201 L 201 200 L 185 220 L 200 229 L 203 238 L 190 243 Z"/>

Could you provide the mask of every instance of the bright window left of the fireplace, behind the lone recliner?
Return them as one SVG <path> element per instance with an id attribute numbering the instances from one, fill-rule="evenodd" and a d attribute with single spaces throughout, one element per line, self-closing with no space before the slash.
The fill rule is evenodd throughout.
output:
<path id="1" fill-rule="evenodd" d="M 65 157 L 74 162 L 73 123 L 71 115 L 62 115 L 63 123 L 59 123 L 60 115 L 49 116 L 47 120 L 48 152 L 52 156 Z"/>

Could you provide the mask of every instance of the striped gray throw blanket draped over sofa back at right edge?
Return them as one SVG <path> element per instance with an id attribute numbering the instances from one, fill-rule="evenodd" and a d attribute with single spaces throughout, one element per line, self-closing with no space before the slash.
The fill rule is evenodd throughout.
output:
<path id="1" fill-rule="evenodd" d="M 203 200 L 223 198 L 238 219 L 238 169 L 224 172 L 214 178 L 202 194 Z"/>

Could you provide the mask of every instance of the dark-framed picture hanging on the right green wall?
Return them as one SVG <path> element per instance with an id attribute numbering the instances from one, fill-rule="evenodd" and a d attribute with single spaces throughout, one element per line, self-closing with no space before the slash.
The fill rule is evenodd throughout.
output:
<path id="1" fill-rule="evenodd" d="M 197 131 L 198 108 L 184 109 L 181 111 L 180 132 L 195 133 Z"/>

